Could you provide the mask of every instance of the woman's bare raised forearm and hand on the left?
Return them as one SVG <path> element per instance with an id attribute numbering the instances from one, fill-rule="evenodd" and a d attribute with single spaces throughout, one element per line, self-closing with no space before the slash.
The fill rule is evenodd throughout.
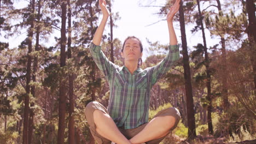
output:
<path id="1" fill-rule="evenodd" d="M 109 16 L 109 10 L 106 7 L 106 1 L 105 0 L 100 0 L 99 4 L 100 4 L 100 7 L 101 7 L 103 17 L 102 17 L 100 26 L 98 26 L 98 28 L 97 28 L 97 30 L 94 34 L 94 39 L 92 39 L 92 43 L 94 43 L 95 45 L 100 45 L 101 44 L 103 31 L 104 31 L 104 28 L 106 26 L 108 16 Z"/>

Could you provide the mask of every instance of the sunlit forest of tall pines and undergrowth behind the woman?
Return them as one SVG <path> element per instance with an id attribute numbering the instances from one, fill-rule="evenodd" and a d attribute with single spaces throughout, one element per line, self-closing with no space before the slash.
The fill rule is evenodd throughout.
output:
<path id="1" fill-rule="evenodd" d="M 107 107 L 109 99 L 107 81 L 88 50 L 100 21 L 98 1 L 30 0 L 22 9 L 15 8 L 15 2 L 0 0 L 0 37 L 8 39 L 24 29 L 27 37 L 15 48 L 0 39 L 0 143 L 95 143 L 84 109 L 95 100 Z M 111 2 L 107 3 L 111 12 Z M 255 3 L 181 2 L 174 18 L 180 25 L 181 58 L 152 88 L 150 118 L 173 106 L 182 115 L 173 135 L 181 139 L 255 139 Z M 171 4 L 159 5 L 160 18 Z M 103 37 L 102 51 L 123 65 L 123 41 L 113 39 L 116 12 L 109 17 L 110 32 Z M 186 31 L 191 24 L 193 30 Z M 206 39 L 206 29 L 219 44 L 207 46 L 211 39 Z M 56 30 L 61 37 L 55 37 L 56 45 L 46 46 Z M 190 52 L 186 32 L 202 34 L 203 43 Z M 160 62 L 167 50 L 158 41 L 148 44 L 159 54 L 147 57 L 143 69 Z M 162 143 L 172 140 L 168 136 Z"/>

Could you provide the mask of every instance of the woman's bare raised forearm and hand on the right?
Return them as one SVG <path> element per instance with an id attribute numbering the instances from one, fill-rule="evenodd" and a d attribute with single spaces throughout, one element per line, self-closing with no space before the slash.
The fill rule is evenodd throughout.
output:
<path id="1" fill-rule="evenodd" d="M 172 21 L 173 21 L 174 15 L 179 10 L 179 2 L 180 1 L 181 0 L 176 0 L 176 2 L 171 6 L 171 8 L 170 8 L 170 10 L 169 10 L 169 12 L 166 16 L 168 29 L 169 29 L 170 45 L 177 45 L 178 44 Z"/>

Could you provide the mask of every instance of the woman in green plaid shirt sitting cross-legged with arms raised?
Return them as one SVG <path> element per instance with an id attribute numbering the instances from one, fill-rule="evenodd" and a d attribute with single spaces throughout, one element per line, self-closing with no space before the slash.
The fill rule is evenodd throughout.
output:
<path id="1" fill-rule="evenodd" d="M 98 68 L 109 82 L 110 97 L 108 109 L 96 101 L 86 106 L 85 116 L 97 143 L 159 143 L 169 134 L 180 119 L 179 111 L 173 107 L 160 111 L 148 122 L 149 92 L 163 74 L 179 59 L 177 38 L 173 28 L 173 17 L 179 9 L 177 0 L 167 14 L 170 46 L 167 56 L 154 67 L 139 68 L 143 47 L 136 37 L 124 41 L 121 55 L 124 66 L 108 61 L 101 51 L 101 39 L 109 16 L 106 1 L 100 0 L 103 13 L 90 52 Z"/>

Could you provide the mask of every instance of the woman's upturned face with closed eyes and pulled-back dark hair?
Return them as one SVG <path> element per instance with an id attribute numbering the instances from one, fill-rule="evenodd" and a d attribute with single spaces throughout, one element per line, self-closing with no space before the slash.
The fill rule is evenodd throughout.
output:
<path id="1" fill-rule="evenodd" d="M 136 61 L 142 57 L 141 47 L 137 39 L 127 39 L 124 45 L 124 50 L 121 52 L 125 61 Z"/>

